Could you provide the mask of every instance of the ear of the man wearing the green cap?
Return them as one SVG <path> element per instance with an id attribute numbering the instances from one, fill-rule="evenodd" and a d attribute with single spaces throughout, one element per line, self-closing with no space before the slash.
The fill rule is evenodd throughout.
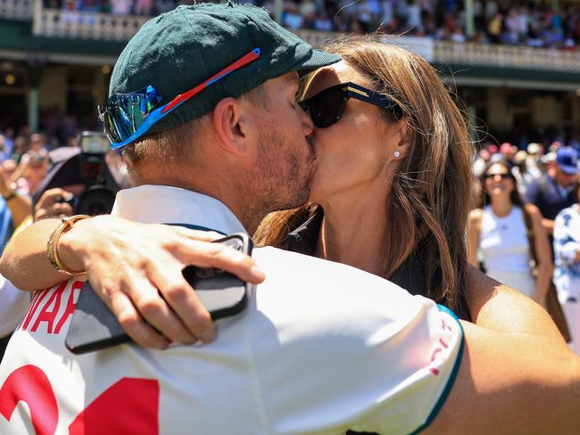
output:
<path id="1" fill-rule="evenodd" d="M 242 105 L 235 98 L 224 98 L 213 109 L 213 127 L 220 138 L 220 145 L 235 154 L 247 150 L 249 119 Z"/>

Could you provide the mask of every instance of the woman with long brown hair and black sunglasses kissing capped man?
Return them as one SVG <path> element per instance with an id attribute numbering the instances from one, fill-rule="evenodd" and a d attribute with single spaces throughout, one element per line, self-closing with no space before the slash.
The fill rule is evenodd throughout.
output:
<path id="1" fill-rule="evenodd" d="M 472 150 L 466 120 L 436 71 L 420 56 L 393 45 L 355 40 L 327 50 L 340 53 L 344 62 L 315 71 L 300 103 L 315 126 L 311 203 L 267 217 L 256 242 L 384 276 L 498 331 L 518 330 L 512 317 L 501 315 L 506 300 L 529 313 L 527 319 L 539 316 L 518 292 L 468 266 Z M 187 249 L 176 249 L 179 237 L 193 236 L 172 227 L 152 231 L 118 217 L 99 217 L 75 226 L 70 237 L 83 226 L 103 236 L 77 263 L 99 277 L 93 284 L 105 298 L 120 291 L 119 297 L 133 300 L 137 308 L 136 282 L 168 288 L 166 274 L 151 271 L 160 264 L 168 270 L 183 267 L 184 258 L 229 267 L 253 282 L 263 279 L 253 273 L 251 262 L 233 253 L 192 251 L 191 242 Z M 47 261 L 46 250 L 32 246 L 46 241 L 53 228 L 52 222 L 40 222 L 5 251 L 3 271 L 22 289 L 56 283 L 46 276 L 41 283 L 41 277 L 25 272 Z M 145 320 L 154 311 L 150 308 L 139 309 Z"/>

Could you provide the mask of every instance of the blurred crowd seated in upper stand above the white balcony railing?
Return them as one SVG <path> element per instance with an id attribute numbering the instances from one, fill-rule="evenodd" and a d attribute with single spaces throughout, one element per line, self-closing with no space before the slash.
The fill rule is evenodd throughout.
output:
<path id="1" fill-rule="evenodd" d="M 154 16 L 178 0 L 44 0 L 68 11 Z M 240 0 L 274 11 L 273 0 Z M 285 0 L 282 21 L 288 29 L 348 33 L 379 32 L 468 41 L 576 49 L 580 43 L 580 5 L 552 2 L 474 0 L 474 27 L 468 35 L 463 0 Z"/>

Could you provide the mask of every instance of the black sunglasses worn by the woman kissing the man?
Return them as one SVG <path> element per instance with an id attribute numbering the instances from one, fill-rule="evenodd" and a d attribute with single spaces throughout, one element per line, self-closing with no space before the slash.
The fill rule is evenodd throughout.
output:
<path id="1" fill-rule="evenodd" d="M 342 118 L 344 107 L 349 98 L 374 104 L 383 109 L 390 109 L 396 119 L 402 118 L 402 109 L 389 97 L 352 82 L 330 86 L 311 98 L 298 102 L 298 104 L 303 111 L 311 115 L 312 122 L 316 127 L 326 128 L 336 124 Z"/>

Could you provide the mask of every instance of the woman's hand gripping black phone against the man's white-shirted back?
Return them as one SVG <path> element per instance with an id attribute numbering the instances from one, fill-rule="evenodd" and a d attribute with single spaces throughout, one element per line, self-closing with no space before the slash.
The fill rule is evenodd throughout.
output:
<path id="1" fill-rule="evenodd" d="M 169 341 L 216 337 L 209 312 L 182 275 L 184 267 L 218 267 L 250 283 L 264 280 L 251 257 L 211 242 L 220 237 L 105 215 L 79 221 L 57 249 L 70 270 L 87 270 L 96 293 L 133 341 L 163 349 Z"/>

